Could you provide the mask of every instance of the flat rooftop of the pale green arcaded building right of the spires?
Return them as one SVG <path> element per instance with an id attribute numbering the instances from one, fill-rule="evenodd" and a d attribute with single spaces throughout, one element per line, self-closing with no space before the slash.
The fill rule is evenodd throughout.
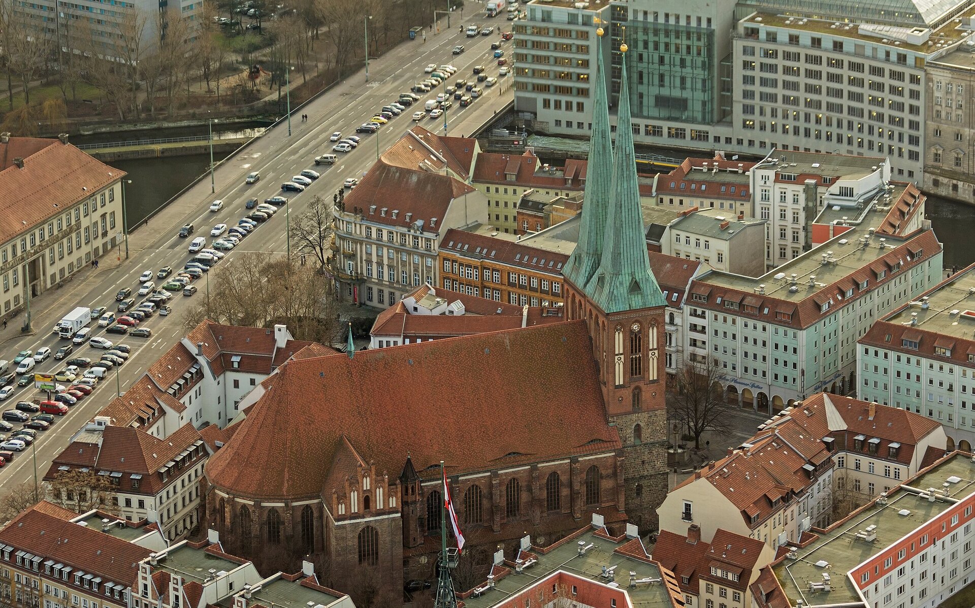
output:
<path id="1" fill-rule="evenodd" d="M 894 190 L 891 191 L 892 197 L 896 200 L 903 191 L 903 185 L 895 184 Z M 883 192 L 878 193 L 878 196 L 883 196 L 883 194 Z M 876 229 L 887 217 L 887 212 L 877 211 L 877 205 L 874 202 L 870 204 L 874 204 L 874 208 L 864 214 L 864 220 L 860 225 L 852 226 L 851 229 L 843 232 L 839 237 L 835 237 L 805 252 L 795 260 L 790 260 L 787 263 L 772 268 L 759 277 L 712 271 L 700 277 L 699 280 L 743 292 L 754 292 L 759 285 L 764 285 L 765 296 L 771 296 L 789 302 L 802 302 L 823 288 L 839 281 L 839 279 L 847 277 L 861 268 L 876 262 L 889 254 L 891 248 L 899 247 L 904 242 L 903 239 L 898 237 L 891 237 L 889 235 L 878 237 L 875 235 L 871 237 L 870 246 L 867 249 L 859 246 L 858 239 L 866 236 L 870 228 Z M 843 215 L 847 215 L 850 218 L 855 217 L 856 214 L 857 210 L 855 209 L 847 209 L 843 212 Z M 879 247 L 879 238 L 886 239 L 884 249 L 880 249 Z M 833 252 L 831 259 L 835 259 L 837 261 L 836 264 L 822 263 L 822 254 L 828 251 Z M 779 273 L 784 273 L 785 278 L 774 278 Z M 797 275 L 799 290 L 796 292 L 789 291 L 789 277 L 792 274 Z M 814 285 L 810 286 L 809 280 L 813 276 L 815 277 Z"/>

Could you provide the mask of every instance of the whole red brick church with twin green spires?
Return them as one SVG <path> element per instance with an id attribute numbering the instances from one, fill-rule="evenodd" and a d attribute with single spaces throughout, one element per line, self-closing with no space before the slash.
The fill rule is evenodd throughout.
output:
<path id="1" fill-rule="evenodd" d="M 332 587 L 371 581 L 387 593 L 379 605 L 398 605 L 405 580 L 436 578 L 441 461 L 468 543 L 461 562 L 475 569 L 499 545 L 510 557 L 526 534 L 555 542 L 593 512 L 656 527 L 665 302 L 632 133 L 610 142 L 602 65 L 593 91 L 565 322 L 281 366 L 206 467 L 208 525 L 229 552 L 265 570 L 310 559 Z"/>

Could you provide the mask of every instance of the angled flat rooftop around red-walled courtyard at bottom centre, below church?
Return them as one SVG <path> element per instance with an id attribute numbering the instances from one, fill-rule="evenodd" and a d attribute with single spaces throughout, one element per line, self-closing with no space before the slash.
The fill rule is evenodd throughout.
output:
<path id="1" fill-rule="evenodd" d="M 471 596 L 465 599 L 465 608 L 488 608 L 560 570 L 604 585 L 615 583 L 618 588 L 629 593 L 630 600 L 637 608 L 670 608 L 672 606 L 670 593 L 662 582 L 628 588 L 631 571 L 637 573 L 637 580 L 662 579 L 660 569 L 656 565 L 614 553 L 613 551 L 622 544 L 617 545 L 608 539 L 598 537 L 594 532 L 594 529 L 590 529 L 585 534 L 563 543 L 548 553 L 534 553 L 538 558 L 538 563 L 525 568 L 521 573 L 512 571 L 511 574 L 502 577 L 493 588 L 488 589 L 480 597 Z M 626 540 L 629 541 L 629 539 Z M 584 555 L 578 554 L 580 541 L 584 543 L 583 547 L 593 545 Z M 604 579 L 601 576 L 603 568 L 612 566 L 616 566 L 612 573 L 613 578 Z"/>

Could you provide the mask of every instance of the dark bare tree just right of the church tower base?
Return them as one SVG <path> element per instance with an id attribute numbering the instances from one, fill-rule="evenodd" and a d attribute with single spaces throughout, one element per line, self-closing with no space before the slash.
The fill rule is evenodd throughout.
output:
<path id="1" fill-rule="evenodd" d="M 702 364 L 687 360 L 667 396 L 668 418 L 686 426 L 695 449 L 701 449 L 705 430 L 726 432 L 734 417 L 734 409 L 722 396 L 721 377 L 717 360 L 708 358 Z"/>

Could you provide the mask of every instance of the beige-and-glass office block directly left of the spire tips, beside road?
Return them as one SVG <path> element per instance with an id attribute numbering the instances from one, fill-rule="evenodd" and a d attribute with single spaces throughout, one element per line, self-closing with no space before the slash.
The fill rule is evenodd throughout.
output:
<path id="1" fill-rule="evenodd" d="M 609 45 L 609 36 L 597 36 L 596 29 L 608 27 L 609 3 L 532 0 L 525 11 L 525 19 L 512 27 L 515 111 L 533 115 L 540 131 L 588 138 L 595 95 L 591 74 Z"/>

